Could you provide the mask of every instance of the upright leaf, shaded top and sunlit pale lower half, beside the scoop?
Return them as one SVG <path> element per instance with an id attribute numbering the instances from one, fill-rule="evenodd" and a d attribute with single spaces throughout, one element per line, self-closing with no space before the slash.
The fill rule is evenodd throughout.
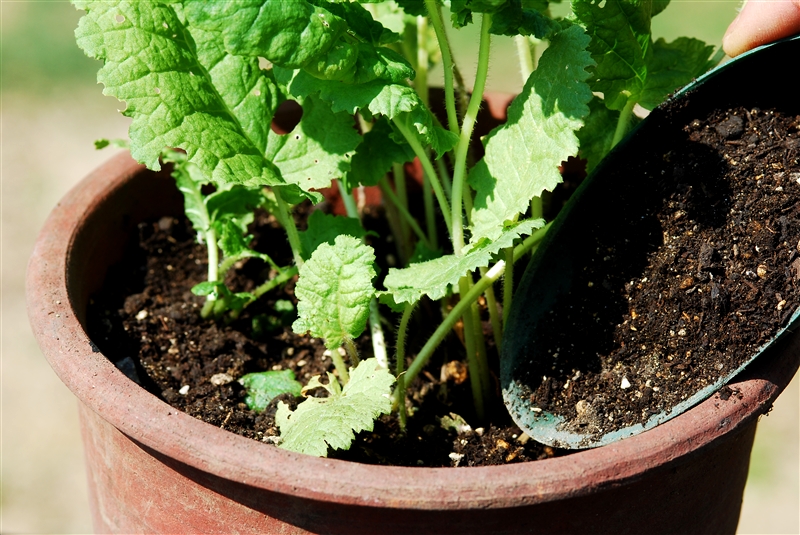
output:
<path id="1" fill-rule="evenodd" d="M 476 190 L 474 238 L 499 236 L 524 213 L 530 199 L 561 182 L 558 166 L 578 153 L 575 132 L 588 115 L 592 93 L 585 80 L 592 59 L 589 36 L 573 25 L 555 34 L 508 109 L 508 121 L 486 138 L 486 155 L 469 176 Z"/>

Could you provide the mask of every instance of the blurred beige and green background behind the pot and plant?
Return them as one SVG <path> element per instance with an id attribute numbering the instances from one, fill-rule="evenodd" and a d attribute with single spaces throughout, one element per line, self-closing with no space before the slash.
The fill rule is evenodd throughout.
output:
<path id="1" fill-rule="evenodd" d="M 681 35 L 719 45 L 736 1 L 679 1 L 654 19 L 655 37 Z M 556 6 L 559 13 L 567 6 Z M 128 120 L 95 83 L 99 63 L 74 42 L 80 12 L 66 1 L 0 0 L 0 532 L 89 533 L 76 400 L 51 371 L 28 327 L 24 278 L 49 211 L 114 150 Z M 477 49 L 474 34 L 454 49 Z M 489 89 L 521 87 L 510 39 L 494 43 Z M 460 63 L 465 78 L 474 65 Z M 800 533 L 798 377 L 758 427 L 740 533 Z"/>

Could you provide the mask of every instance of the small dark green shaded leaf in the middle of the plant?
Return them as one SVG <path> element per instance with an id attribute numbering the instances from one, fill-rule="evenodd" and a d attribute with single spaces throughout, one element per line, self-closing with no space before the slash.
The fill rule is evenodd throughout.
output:
<path id="1" fill-rule="evenodd" d="M 414 159 L 411 147 L 407 143 L 395 142 L 392 134 L 392 127 L 385 118 L 376 121 L 372 130 L 364 134 L 350 162 L 350 172 L 345 181 L 348 191 L 359 185 L 375 186 L 392 164 Z"/>

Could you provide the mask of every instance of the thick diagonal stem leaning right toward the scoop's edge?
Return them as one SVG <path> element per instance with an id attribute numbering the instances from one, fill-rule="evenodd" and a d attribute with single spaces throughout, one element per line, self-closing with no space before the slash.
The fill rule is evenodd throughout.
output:
<path id="1" fill-rule="evenodd" d="M 514 248 L 514 262 L 519 261 L 528 251 L 530 251 L 533 247 L 538 245 L 542 239 L 544 238 L 547 230 L 550 228 L 551 223 L 548 223 L 544 227 L 540 228 L 530 236 L 528 236 L 521 244 L 517 245 Z M 428 361 L 430 360 L 433 352 L 439 347 L 439 344 L 442 343 L 444 337 L 447 336 L 447 333 L 450 332 L 450 329 L 453 328 L 453 325 L 456 324 L 458 319 L 464 313 L 464 310 L 468 306 L 470 306 L 480 295 L 486 291 L 486 288 L 494 284 L 497 279 L 499 279 L 506 270 L 506 263 L 503 260 L 497 262 L 494 266 L 492 266 L 489 271 L 483 275 L 478 282 L 472 287 L 472 289 L 467 292 L 466 295 L 462 295 L 461 299 L 456 306 L 447 314 L 444 318 L 444 321 L 436 328 L 433 335 L 428 339 L 425 345 L 422 347 L 420 352 L 417 354 L 416 358 L 414 358 L 414 362 L 411 363 L 411 366 L 408 367 L 408 371 L 403 376 L 405 379 L 405 384 L 408 386 L 411 381 L 422 371 Z"/>

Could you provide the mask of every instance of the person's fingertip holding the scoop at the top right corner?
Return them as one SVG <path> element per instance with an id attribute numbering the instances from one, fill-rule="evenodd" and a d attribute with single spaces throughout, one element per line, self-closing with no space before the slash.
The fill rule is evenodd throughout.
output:
<path id="1" fill-rule="evenodd" d="M 800 0 L 747 0 L 722 38 L 729 56 L 800 32 Z"/>

